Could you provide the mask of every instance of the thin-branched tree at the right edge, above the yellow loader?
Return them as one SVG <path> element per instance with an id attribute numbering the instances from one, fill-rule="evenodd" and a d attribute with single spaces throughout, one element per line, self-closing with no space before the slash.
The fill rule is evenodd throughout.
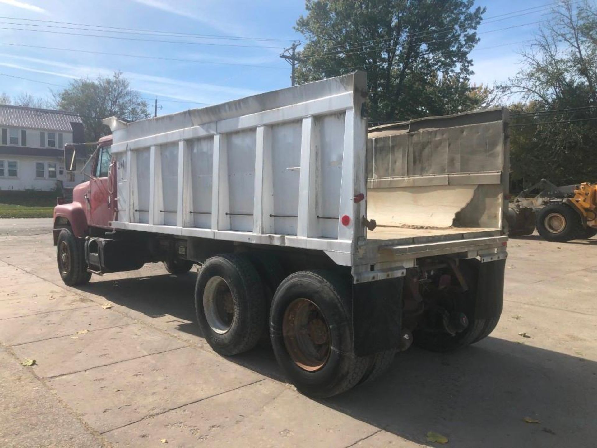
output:
<path id="1" fill-rule="evenodd" d="M 592 2 L 561 0 L 501 88 L 513 106 L 512 179 L 529 186 L 597 180 L 597 15 Z M 556 111 L 556 112 L 550 112 Z"/>

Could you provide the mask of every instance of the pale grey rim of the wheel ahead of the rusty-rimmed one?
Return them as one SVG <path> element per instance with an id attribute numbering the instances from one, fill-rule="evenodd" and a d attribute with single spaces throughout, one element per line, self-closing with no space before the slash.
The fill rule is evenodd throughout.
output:
<path id="1" fill-rule="evenodd" d="M 223 335 L 232 327 L 234 321 L 234 300 L 226 280 L 214 275 L 205 284 L 203 291 L 203 309 L 210 328 Z"/>

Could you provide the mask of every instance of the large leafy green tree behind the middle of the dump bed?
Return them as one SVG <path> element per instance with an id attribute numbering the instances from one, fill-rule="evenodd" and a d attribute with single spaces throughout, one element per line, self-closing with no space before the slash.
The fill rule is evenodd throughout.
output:
<path id="1" fill-rule="evenodd" d="M 298 82 L 367 70 L 371 121 L 469 111 L 474 0 L 306 0 Z"/>

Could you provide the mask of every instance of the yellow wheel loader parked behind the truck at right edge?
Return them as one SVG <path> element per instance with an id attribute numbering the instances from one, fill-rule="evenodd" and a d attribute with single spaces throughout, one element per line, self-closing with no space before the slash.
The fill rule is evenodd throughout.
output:
<path id="1" fill-rule="evenodd" d="M 506 218 L 511 236 L 537 228 L 547 241 L 586 240 L 597 234 L 597 184 L 558 187 L 543 179 L 512 201 Z"/>

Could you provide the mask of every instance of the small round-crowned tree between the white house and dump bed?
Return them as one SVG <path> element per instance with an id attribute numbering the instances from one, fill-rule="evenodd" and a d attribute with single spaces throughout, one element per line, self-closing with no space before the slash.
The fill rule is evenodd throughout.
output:
<path id="1" fill-rule="evenodd" d="M 149 118 L 147 103 L 134 91 L 121 72 L 109 77 L 75 79 L 69 87 L 54 93 L 56 106 L 61 111 L 81 115 L 85 127 L 85 140 L 96 142 L 110 134 L 110 128 L 101 119 L 109 116 L 135 121 Z"/>

